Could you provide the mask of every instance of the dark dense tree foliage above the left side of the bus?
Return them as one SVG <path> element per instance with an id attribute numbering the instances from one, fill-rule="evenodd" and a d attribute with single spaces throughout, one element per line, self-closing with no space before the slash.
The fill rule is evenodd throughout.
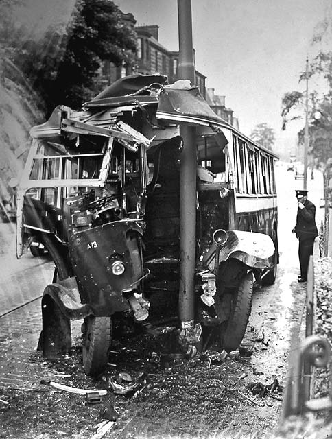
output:
<path id="1" fill-rule="evenodd" d="M 77 0 L 69 21 L 54 23 L 38 40 L 25 38 L 29 33 L 23 27 L 16 29 L 12 38 L 8 14 L 0 41 L 5 42 L 14 65 L 43 97 L 47 114 L 58 104 L 77 109 L 101 91 L 104 61 L 117 66 L 134 62 L 137 35 L 122 16 L 110 0 Z"/>

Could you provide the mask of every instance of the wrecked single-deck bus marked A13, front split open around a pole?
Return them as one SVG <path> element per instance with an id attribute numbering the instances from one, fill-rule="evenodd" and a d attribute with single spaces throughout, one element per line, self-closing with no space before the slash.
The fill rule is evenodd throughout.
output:
<path id="1" fill-rule="evenodd" d="M 115 320 L 177 316 L 180 123 L 196 127 L 195 321 L 226 351 L 239 347 L 254 281 L 276 278 L 276 156 L 215 115 L 198 88 L 132 75 L 31 130 L 17 254 L 38 242 L 54 261 L 45 357 L 68 353 L 71 320 L 83 320 L 84 369 L 98 375 Z"/>

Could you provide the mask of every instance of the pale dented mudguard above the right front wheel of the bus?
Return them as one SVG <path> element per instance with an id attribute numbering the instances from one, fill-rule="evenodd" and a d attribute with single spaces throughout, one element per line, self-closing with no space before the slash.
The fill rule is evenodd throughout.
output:
<path id="1" fill-rule="evenodd" d="M 214 242 L 203 258 L 203 264 L 212 273 L 221 262 L 238 259 L 249 268 L 265 270 L 273 266 L 275 248 L 272 239 L 264 233 L 228 230 L 222 244 Z"/>

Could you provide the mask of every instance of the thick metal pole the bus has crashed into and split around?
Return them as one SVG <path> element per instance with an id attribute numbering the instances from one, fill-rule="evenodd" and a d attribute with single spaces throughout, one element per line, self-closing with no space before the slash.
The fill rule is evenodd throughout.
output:
<path id="1" fill-rule="evenodd" d="M 191 0 L 178 0 L 179 79 L 195 84 Z M 180 155 L 180 290 L 181 322 L 194 319 L 195 242 L 196 242 L 196 132 L 180 125 L 183 149 Z"/>

